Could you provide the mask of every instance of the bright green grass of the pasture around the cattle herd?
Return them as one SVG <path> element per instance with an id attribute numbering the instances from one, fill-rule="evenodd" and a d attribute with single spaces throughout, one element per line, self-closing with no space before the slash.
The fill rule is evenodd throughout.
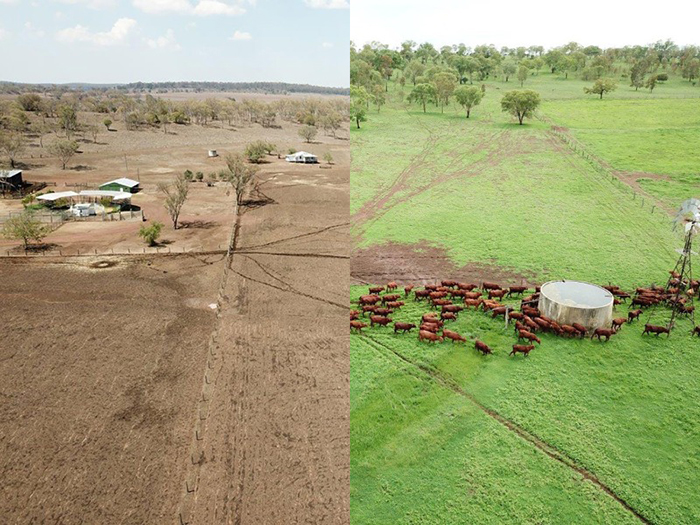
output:
<path id="1" fill-rule="evenodd" d="M 642 207 L 629 188 L 601 176 L 546 121 L 513 124 L 499 108 L 501 92 L 517 87 L 508 84 L 488 84 L 469 120 L 453 107 L 444 114 L 407 108 L 392 85 L 390 103 L 352 133 L 358 245 L 425 242 L 458 265 L 496 264 L 540 280 L 627 288 L 663 281 L 680 246 L 669 217 L 651 214 L 648 199 Z M 543 94 L 547 119 L 614 169 L 664 175 L 640 184 L 668 206 L 695 195 L 698 154 L 684 141 L 698 142 L 700 107 L 691 97 L 700 89 L 675 79 L 653 95 L 623 86 L 600 101 L 584 97 L 589 84 L 542 74 L 525 87 Z M 415 321 L 423 311 L 410 304 L 395 319 Z M 653 321 L 663 324 L 665 315 L 657 310 Z M 370 336 L 561 450 L 652 522 L 700 522 L 700 343 L 688 321 L 668 339 L 643 338 L 640 325 L 607 344 L 544 336 L 527 360 L 506 357 L 512 332 L 482 313 L 463 313 L 454 326 L 491 344 L 489 357 L 386 328 L 353 335 L 353 521 L 632 517 Z"/>

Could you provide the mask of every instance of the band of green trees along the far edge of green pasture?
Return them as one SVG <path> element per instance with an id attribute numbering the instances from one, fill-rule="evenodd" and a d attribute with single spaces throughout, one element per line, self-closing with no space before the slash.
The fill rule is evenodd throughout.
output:
<path id="1" fill-rule="evenodd" d="M 359 128 L 373 106 L 381 111 L 389 81 L 394 80 L 402 90 L 408 86 L 407 101 L 418 104 L 424 112 L 428 104 L 444 111 L 450 100 L 455 100 L 468 118 L 485 95 L 486 81 L 516 81 L 523 88 L 530 76 L 541 71 L 559 75 L 563 80 L 577 75 L 591 81 L 593 85 L 585 93 L 600 98 L 614 91 L 620 81 L 629 82 L 635 90 L 645 88 L 653 92 L 669 79 L 669 74 L 695 85 L 700 77 L 700 47 L 679 47 L 670 40 L 608 49 L 571 42 L 549 50 L 543 46 L 497 49 L 493 45 L 470 48 L 464 44 L 437 49 L 428 42 L 419 45 L 410 40 L 397 49 L 379 42 L 361 49 L 351 44 L 350 117 Z M 481 86 L 474 86 L 475 82 Z M 529 100 L 530 105 L 539 98 L 529 90 L 519 93 L 517 97 Z M 502 106 L 509 106 L 514 97 L 507 97 Z M 504 107 L 504 111 L 510 110 Z M 520 116 L 518 120 L 522 124 Z"/>

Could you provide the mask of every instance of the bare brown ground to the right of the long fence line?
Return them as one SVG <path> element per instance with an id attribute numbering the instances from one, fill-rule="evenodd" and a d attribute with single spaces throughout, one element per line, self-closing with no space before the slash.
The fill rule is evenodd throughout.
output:
<path id="1" fill-rule="evenodd" d="M 318 172 L 241 214 L 183 522 L 349 522 L 348 173 Z"/>

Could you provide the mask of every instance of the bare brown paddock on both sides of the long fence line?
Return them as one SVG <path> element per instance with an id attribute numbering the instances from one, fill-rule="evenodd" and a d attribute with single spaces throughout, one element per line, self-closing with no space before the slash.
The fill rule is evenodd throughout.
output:
<path id="1" fill-rule="evenodd" d="M 266 164 L 228 259 L 0 262 L 3 521 L 349 523 L 347 143 L 334 155 Z"/>

